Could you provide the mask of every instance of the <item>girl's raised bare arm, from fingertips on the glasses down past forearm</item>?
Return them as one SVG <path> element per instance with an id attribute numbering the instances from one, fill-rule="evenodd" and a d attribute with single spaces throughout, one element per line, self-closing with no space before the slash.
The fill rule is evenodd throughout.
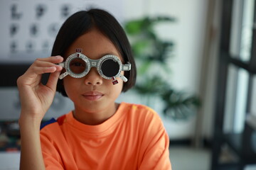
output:
<path id="1" fill-rule="evenodd" d="M 17 80 L 21 98 L 21 115 L 18 120 L 21 129 L 20 169 L 45 169 L 40 142 L 40 124 L 53 102 L 62 57 L 38 59 Z M 44 73 L 50 73 L 46 85 L 41 84 Z"/>

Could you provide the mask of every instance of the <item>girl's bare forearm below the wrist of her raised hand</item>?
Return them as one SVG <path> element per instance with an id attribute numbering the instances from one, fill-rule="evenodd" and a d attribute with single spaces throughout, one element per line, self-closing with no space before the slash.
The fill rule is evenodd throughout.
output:
<path id="1" fill-rule="evenodd" d="M 21 164 L 20 169 L 45 169 L 40 142 L 40 121 L 20 118 Z"/>

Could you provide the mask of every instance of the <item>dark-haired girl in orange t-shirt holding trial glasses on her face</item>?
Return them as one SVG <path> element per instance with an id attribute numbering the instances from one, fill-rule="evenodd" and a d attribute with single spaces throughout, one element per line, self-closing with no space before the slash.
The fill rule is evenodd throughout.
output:
<path id="1" fill-rule="evenodd" d="M 37 59 L 17 80 L 21 169 L 171 169 L 159 115 L 115 103 L 134 86 L 136 67 L 127 36 L 110 13 L 90 9 L 70 16 L 52 56 Z M 45 73 L 50 77 L 43 85 Z M 41 125 L 56 89 L 75 109 Z"/>

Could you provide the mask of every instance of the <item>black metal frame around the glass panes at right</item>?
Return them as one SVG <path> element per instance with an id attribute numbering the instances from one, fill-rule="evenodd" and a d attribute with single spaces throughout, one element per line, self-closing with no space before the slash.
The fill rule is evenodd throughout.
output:
<path id="1" fill-rule="evenodd" d="M 222 1 L 222 21 L 220 33 L 220 53 L 218 63 L 218 82 L 217 82 L 217 95 L 215 98 L 215 120 L 213 132 L 213 147 L 212 147 L 212 160 L 211 169 L 244 169 L 247 164 L 256 164 L 256 153 L 251 152 L 250 137 L 253 128 L 245 122 L 245 129 L 240 135 L 224 134 L 223 123 L 225 117 L 225 96 L 228 79 L 228 66 L 229 64 L 235 67 L 245 69 L 249 73 L 248 92 L 247 92 L 247 107 L 246 113 L 250 112 L 250 98 L 252 92 L 252 77 L 256 74 L 256 2 L 254 7 L 254 28 L 252 31 L 252 50 L 249 62 L 242 62 L 238 56 L 233 57 L 230 55 L 230 34 L 231 34 L 231 21 L 233 13 L 233 0 Z M 221 148 L 223 145 L 228 145 L 231 149 L 238 154 L 239 161 L 236 163 L 222 164 L 219 162 Z"/>

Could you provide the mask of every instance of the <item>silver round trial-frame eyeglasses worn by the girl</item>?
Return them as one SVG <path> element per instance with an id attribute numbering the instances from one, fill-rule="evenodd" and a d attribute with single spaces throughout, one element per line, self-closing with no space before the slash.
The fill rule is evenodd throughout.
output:
<path id="1" fill-rule="evenodd" d="M 74 78 L 85 77 L 92 67 L 97 68 L 97 72 L 104 79 L 112 79 L 113 84 L 117 84 L 117 77 L 121 78 L 124 82 L 127 78 L 124 77 L 121 72 L 131 70 L 131 64 L 122 64 L 121 60 L 115 55 L 105 55 L 99 60 L 91 60 L 82 54 L 82 49 L 76 49 L 76 52 L 68 56 L 65 62 L 59 63 L 64 67 L 66 72 L 60 74 L 59 79 L 70 75 Z"/>

